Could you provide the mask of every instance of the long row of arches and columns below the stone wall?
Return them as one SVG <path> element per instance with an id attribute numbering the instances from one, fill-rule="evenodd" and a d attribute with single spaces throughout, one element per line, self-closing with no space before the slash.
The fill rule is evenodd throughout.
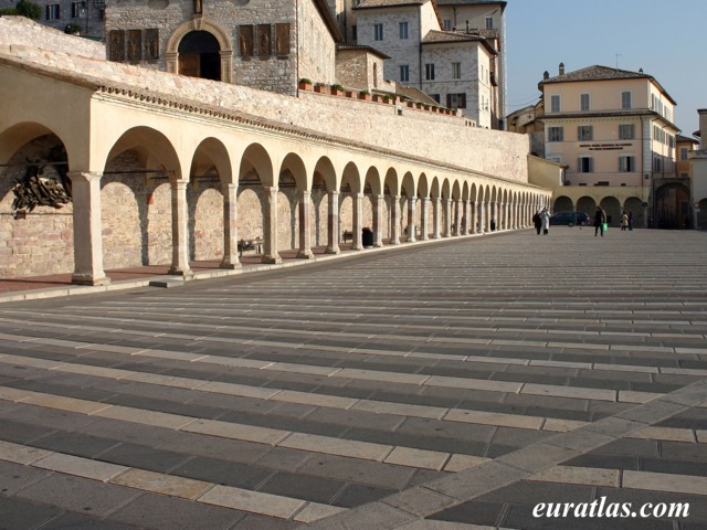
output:
<path id="1" fill-rule="evenodd" d="M 81 163 L 72 163 L 72 142 L 45 125 L 23 123 L 0 134 L 0 142 L 23 140 L 6 152 L 15 173 L 22 160 L 50 148 L 66 152 L 73 204 L 61 214 L 50 208 L 36 214 L 61 215 L 54 231 L 71 230 L 73 248 L 48 266 L 73 269 L 75 283 L 92 285 L 107 283 L 105 269 L 139 265 L 170 264 L 171 274 L 189 276 L 193 261 L 239 267 L 241 240 L 262 240 L 261 261 L 279 263 L 289 250 L 299 258 L 313 257 L 315 247 L 337 254 L 344 233 L 351 235 L 350 248 L 363 250 L 365 227 L 373 246 L 521 229 L 549 202 L 547 191 L 527 184 L 395 157 L 253 135 L 239 137 L 240 146 L 205 136 L 186 152 L 175 147 L 183 138 L 170 134 L 128 128 L 103 147 L 105 162 L 92 162 L 99 168 L 93 171 L 74 170 Z M 14 180 L 7 171 L 3 210 Z M 45 233 L 48 224 L 38 230 Z"/>

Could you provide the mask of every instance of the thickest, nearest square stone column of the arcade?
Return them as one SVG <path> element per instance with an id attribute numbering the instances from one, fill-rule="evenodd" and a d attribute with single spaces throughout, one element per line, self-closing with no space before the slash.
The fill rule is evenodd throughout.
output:
<path id="1" fill-rule="evenodd" d="M 70 172 L 74 204 L 74 273 L 72 284 L 107 285 L 103 269 L 101 178 L 103 173 Z"/>

